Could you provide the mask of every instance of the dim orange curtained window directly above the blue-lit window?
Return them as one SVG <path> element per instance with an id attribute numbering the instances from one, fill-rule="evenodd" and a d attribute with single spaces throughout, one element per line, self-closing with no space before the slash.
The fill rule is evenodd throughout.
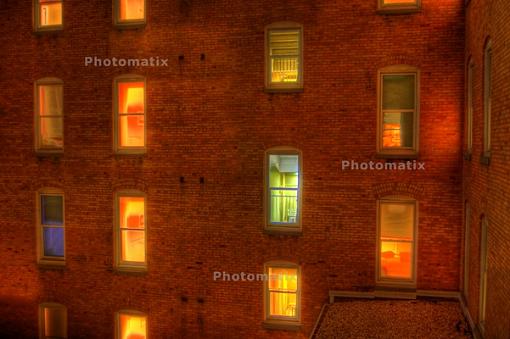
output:
<path id="1" fill-rule="evenodd" d="M 63 84 L 58 79 L 41 79 L 35 90 L 36 149 L 61 152 L 64 147 Z"/>

